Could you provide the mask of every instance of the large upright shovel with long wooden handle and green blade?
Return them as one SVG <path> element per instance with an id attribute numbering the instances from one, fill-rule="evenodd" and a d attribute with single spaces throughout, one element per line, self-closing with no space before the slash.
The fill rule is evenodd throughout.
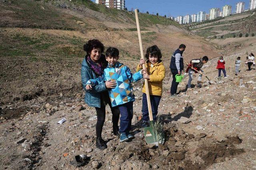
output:
<path id="1" fill-rule="evenodd" d="M 139 24 L 139 18 L 138 18 L 138 10 L 135 10 L 135 18 L 136 18 L 136 24 L 137 24 L 137 30 L 138 30 L 138 37 L 139 37 L 139 43 L 140 43 L 140 55 L 141 58 L 144 59 L 144 53 L 143 53 L 143 47 L 142 47 L 142 39 L 140 34 L 140 24 Z M 142 65 L 143 69 L 146 69 L 145 64 Z M 164 143 L 164 132 L 163 129 L 157 128 L 156 125 L 154 125 L 153 121 L 153 115 L 152 115 L 152 108 L 150 103 L 150 94 L 148 89 L 148 80 L 144 78 L 145 86 L 146 86 L 146 95 L 147 95 L 147 103 L 148 103 L 148 113 L 149 113 L 149 120 L 150 120 L 150 127 L 144 127 L 144 137 L 147 144 L 155 144 L 158 146 L 158 143 L 163 144 Z"/>

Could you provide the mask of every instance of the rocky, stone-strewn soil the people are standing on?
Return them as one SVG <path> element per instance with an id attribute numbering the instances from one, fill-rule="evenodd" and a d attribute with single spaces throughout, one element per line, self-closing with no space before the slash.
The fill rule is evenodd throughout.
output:
<path id="1" fill-rule="evenodd" d="M 203 78 L 202 88 L 186 91 L 188 77 L 179 85 L 180 94 L 170 97 L 169 70 L 159 117 L 166 141 L 155 148 L 146 145 L 140 128 L 142 81 L 134 84 L 136 102 L 132 132 L 135 139 L 119 143 L 112 134 L 107 107 L 104 151 L 95 146 L 96 111 L 84 104 L 84 92 L 73 97 L 40 96 L 1 105 L 1 169 L 256 169 L 256 70 L 234 76 L 234 61 L 245 53 L 225 57 L 228 78 L 217 78 L 217 59 L 204 68 L 212 85 Z M 245 57 L 242 57 L 242 59 Z M 168 68 L 168 59 L 164 59 Z M 243 61 L 244 62 L 244 61 Z M 254 67 L 255 68 L 255 67 Z M 196 78 L 193 83 L 196 84 Z M 40 90 L 39 90 L 40 91 Z M 29 97 L 29 96 L 28 96 Z M 57 122 L 66 118 L 63 124 Z M 74 156 L 88 156 L 80 168 L 70 164 Z"/>

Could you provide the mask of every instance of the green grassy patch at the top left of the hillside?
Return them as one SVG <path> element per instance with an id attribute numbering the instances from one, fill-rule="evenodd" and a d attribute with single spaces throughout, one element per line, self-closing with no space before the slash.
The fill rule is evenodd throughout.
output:
<path id="1" fill-rule="evenodd" d="M 19 6 L 19 8 L 15 8 Z M 23 22 L 2 22 L 3 27 L 30 27 L 40 29 L 63 29 L 75 30 L 80 27 L 76 24 L 78 18 L 61 13 L 54 6 L 46 5 L 42 2 L 34 1 L 12 1 L 8 10 L 14 13 L 8 13 L 10 17 Z M 84 26 L 85 28 L 85 26 Z"/>

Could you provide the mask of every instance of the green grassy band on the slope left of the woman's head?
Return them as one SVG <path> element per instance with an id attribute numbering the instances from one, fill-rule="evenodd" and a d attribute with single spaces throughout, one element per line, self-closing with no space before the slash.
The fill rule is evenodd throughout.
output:
<path id="1" fill-rule="evenodd" d="M 3 41 L 0 41 L 0 56 L 2 57 L 23 57 L 30 56 L 30 61 L 38 61 L 39 56 L 46 57 L 81 57 L 84 53 L 83 45 L 86 39 L 80 37 L 59 36 L 52 37 L 50 34 L 37 36 L 1 34 Z"/>

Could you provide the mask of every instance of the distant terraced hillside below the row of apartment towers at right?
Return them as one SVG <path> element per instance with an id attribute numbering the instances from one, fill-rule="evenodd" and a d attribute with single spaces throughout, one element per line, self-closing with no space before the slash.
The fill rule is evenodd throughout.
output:
<path id="1" fill-rule="evenodd" d="M 204 37 L 210 43 L 220 45 L 226 51 L 239 51 L 240 48 L 247 48 L 250 51 L 256 45 L 256 26 L 253 24 L 255 21 L 256 13 L 250 11 L 222 19 L 192 23 L 187 27 L 194 34 Z"/>

